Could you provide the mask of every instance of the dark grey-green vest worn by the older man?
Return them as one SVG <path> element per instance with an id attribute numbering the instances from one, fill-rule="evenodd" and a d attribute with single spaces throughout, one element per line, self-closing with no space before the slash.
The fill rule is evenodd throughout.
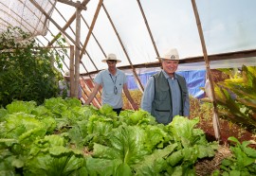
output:
<path id="1" fill-rule="evenodd" d="M 173 120 L 173 102 L 171 88 L 168 80 L 165 78 L 163 72 L 155 74 L 155 97 L 152 103 L 151 114 L 155 116 L 158 123 L 163 123 L 165 125 L 169 124 Z M 186 80 L 175 74 L 177 82 L 180 88 L 182 104 L 181 104 L 181 114 L 183 115 L 183 107 L 188 94 Z"/>

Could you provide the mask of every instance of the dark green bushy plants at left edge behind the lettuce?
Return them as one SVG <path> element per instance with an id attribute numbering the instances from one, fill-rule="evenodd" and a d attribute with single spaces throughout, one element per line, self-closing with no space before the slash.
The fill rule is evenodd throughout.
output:
<path id="1" fill-rule="evenodd" d="M 1 33 L 0 53 L 0 106 L 14 99 L 41 104 L 58 95 L 60 73 L 53 67 L 53 55 L 27 33 L 18 27 Z"/>

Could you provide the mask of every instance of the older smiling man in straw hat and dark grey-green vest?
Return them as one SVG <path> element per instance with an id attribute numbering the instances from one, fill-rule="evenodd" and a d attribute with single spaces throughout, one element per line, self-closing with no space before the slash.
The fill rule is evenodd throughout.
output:
<path id="1" fill-rule="evenodd" d="M 177 114 L 190 115 L 190 97 L 186 80 L 177 75 L 179 56 L 175 48 L 163 57 L 162 70 L 147 82 L 141 100 L 141 109 L 149 112 L 158 123 L 169 124 Z"/>

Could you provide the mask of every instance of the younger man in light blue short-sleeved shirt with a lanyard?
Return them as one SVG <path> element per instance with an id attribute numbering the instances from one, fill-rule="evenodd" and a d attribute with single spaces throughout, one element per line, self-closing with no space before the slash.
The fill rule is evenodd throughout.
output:
<path id="1" fill-rule="evenodd" d="M 109 54 L 106 59 L 102 60 L 108 65 L 108 69 L 102 70 L 94 79 L 95 85 L 91 95 L 85 101 L 85 104 L 90 104 L 93 98 L 96 96 L 100 87 L 102 86 L 101 101 L 102 104 L 109 104 L 113 110 L 119 115 L 122 106 L 122 90 L 134 110 L 137 110 L 137 104 L 131 97 L 125 74 L 119 70 L 116 65 L 120 62 L 115 54 Z"/>

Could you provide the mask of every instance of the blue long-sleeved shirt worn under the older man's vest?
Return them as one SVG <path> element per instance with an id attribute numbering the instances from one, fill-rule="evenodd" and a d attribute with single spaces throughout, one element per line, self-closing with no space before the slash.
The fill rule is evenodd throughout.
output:
<path id="1" fill-rule="evenodd" d="M 172 79 L 168 76 L 168 74 L 165 71 L 163 71 L 163 73 L 171 87 L 172 103 L 173 103 L 173 117 L 174 117 L 176 114 L 179 114 L 179 112 L 181 110 L 181 92 L 180 92 L 180 88 L 178 85 L 178 81 L 175 77 L 175 74 L 174 74 L 174 79 Z M 152 102 L 154 100 L 154 97 L 155 97 L 155 80 L 153 77 L 151 77 L 150 79 L 148 79 L 147 85 L 146 85 L 144 93 L 143 93 L 143 97 L 142 97 L 141 105 L 140 105 L 141 109 L 151 113 Z M 189 97 L 189 95 L 187 95 L 187 97 L 185 99 L 183 111 L 184 111 L 184 116 L 190 115 L 190 97 Z"/>

